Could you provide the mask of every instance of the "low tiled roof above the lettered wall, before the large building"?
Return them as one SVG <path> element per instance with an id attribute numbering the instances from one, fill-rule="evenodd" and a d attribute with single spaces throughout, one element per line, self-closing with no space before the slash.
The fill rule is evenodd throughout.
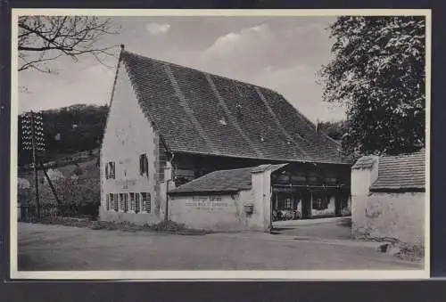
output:
<path id="1" fill-rule="evenodd" d="M 249 190 L 252 186 L 251 174 L 257 167 L 244 167 L 233 170 L 219 170 L 203 175 L 193 181 L 170 190 L 169 193 L 181 192 L 237 192 Z"/>

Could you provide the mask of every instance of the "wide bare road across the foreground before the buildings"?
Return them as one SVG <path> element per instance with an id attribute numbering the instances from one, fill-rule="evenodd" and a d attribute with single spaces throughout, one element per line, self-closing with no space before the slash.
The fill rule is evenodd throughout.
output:
<path id="1" fill-rule="evenodd" d="M 422 268 L 356 243 L 286 240 L 265 233 L 185 236 L 21 223 L 18 253 L 19 271 Z"/>

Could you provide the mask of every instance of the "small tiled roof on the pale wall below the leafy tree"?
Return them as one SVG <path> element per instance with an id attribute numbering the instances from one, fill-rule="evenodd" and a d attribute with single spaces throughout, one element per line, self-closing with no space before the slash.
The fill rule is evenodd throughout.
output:
<path id="1" fill-rule="evenodd" d="M 425 150 L 379 159 L 378 178 L 370 191 L 425 189 Z"/>

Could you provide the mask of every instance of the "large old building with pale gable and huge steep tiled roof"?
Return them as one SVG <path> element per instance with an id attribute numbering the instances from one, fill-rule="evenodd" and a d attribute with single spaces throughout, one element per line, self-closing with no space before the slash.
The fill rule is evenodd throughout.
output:
<path id="1" fill-rule="evenodd" d="M 281 163 L 326 167 L 333 179 L 349 168 L 339 144 L 282 95 L 121 50 L 101 150 L 101 219 L 167 219 L 172 188 L 216 170 Z M 324 189 L 318 171 L 294 187 L 313 179 Z M 275 192 L 277 208 L 289 206 L 293 192 Z"/>

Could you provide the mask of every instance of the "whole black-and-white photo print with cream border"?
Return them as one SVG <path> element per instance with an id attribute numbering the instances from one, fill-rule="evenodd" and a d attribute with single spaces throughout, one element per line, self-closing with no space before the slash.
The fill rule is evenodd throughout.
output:
<path id="1" fill-rule="evenodd" d="M 12 278 L 428 277 L 430 22 L 12 10 Z"/>

